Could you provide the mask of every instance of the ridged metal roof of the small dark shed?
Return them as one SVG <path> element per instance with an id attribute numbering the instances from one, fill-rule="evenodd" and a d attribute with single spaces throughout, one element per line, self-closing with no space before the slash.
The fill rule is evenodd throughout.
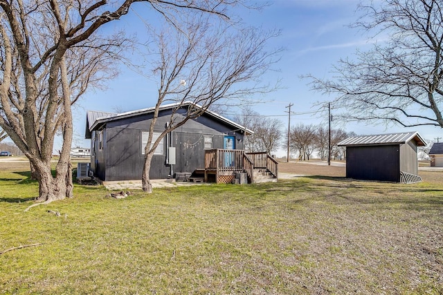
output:
<path id="1" fill-rule="evenodd" d="M 383 144 L 405 144 L 410 140 L 415 140 L 417 146 L 426 146 L 426 142 L 417 132 L 408 133 L 389 133 L 377 135 L 362 135 L 348 137 L 338 146 L 368 146 L 368 145 L 383 145 Z"/>

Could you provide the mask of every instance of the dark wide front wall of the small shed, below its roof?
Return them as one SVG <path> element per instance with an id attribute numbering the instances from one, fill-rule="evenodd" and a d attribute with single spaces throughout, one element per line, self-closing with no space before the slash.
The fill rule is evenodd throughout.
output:
<path id="1" fill-rule="evenodd" d="M 347 146 L 346 153 L 347 178 L 400 181 L 399 145 Z"/>

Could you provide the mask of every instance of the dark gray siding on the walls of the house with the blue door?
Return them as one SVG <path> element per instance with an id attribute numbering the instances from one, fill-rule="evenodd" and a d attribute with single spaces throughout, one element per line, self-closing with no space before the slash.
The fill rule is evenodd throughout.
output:
<path id="1" fill-rule="evenodd" d="M 154 131 L 162 132 L 169 119 L 170 110 L 161 112 Z M 141 179 L 144 161 L 141 133 L 148 131 L 151 120 L 152 114 L 147 114 L 106 124 L 106 144 L 103 151 L 97 151 L 93 165 L 93 169 L 96 169 L 93 170 L 94 173 L 101 180 Z M 205 115 L 189 120 L 164 139 L 163 155 L 154 155 L 152 158 L 150 178 L 171 178 L 177 172 L 192 172 L 197 168 L 204 168 L 204 137 L 213 137 L 213 149 L 223 149 L 225 134 L 234 135 L 236 149 L 243 149 L 242 131 L 230 130 L 225 124 Z M 172 173 L 171 166 L 166 164 L 168 145 L 176 148 L 176 164 L 172 166 Z"/>

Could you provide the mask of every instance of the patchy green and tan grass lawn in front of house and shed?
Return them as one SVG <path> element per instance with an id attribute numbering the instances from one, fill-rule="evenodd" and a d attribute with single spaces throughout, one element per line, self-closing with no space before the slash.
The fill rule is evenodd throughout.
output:
<path id="1" fill-rule="evenodd" d="M 0 294 L 442 294 L 443 184 L 298 178 L 24 209 L 0 171 Z M 48 210 L 60 212 L 60 217 Z"/>

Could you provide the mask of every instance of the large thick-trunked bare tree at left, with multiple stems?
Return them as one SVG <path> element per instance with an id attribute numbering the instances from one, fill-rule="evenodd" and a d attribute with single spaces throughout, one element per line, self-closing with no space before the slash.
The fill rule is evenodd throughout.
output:
<path id="1" fill-rule="evenodd" d="M 91 82 L 109 77 L 111 60 L 118 59 L 126 39 L 100 36 L 98 30 L 126 15 L 134 2 L 0 0 L 0 127 L 37 172 L 39 200 L 72 196 L 71 104 Z M 147 7 L 173 21 L 172 15 L 187 10 L 226 17 L 235 3 L 157 0 Z M 63 146 L 53 177 L 57 132 Z"/>

